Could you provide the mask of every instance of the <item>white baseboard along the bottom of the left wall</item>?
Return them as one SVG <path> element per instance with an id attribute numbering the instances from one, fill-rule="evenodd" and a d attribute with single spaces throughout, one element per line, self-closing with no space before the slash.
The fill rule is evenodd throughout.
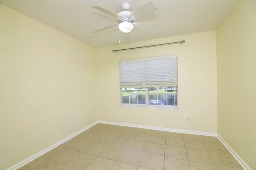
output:
<path id="1" fill-rule="evenodd" d="M 46 152 L 49 152 L 50 150 L 60 146 L 61 144 L 65 143 L 66 141 L 72 139 L 73 137 L 75 137 L 76 135 L 79 135 L 80 133 L 86 131 L 87 129 L 89 129 L 90 127 L 96 125 L 98 123 L 98 121 L 86 126 L 85 128 L 81 129 L 80 131 L 77 131 L 76 133 L 62 139 L 61 141 L 58 141 L 57 143 L 54 143 L 53 145 L 51 145 L 50 147 L 30 156 L 29 158 L 26 158 L 25 160 L 22 160 L 21 162 L 19 162 L 18 164 L 15 164 L 14 166 L 11 166 L 10 168 L 7 168 L 6 170 L 17 170 L 18 168 L 28 164 L 29 162 L 31 162 L 32 160 L 35 160 L 36 158 L 42 156 L 43 154 L 45 154 Z"/>

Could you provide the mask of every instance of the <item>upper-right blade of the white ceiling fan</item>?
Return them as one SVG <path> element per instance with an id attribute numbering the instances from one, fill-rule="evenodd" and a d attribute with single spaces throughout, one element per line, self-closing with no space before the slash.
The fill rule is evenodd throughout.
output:
<path id="1" fill-rule="evenodd" d="M 150 2 L 150 3 L 142 6 L 138 10 L 134 11 L 130 15 L 130 20 L 131 21 L 138 20 L 144 16 L 147 16 L 147 15 L 155 12 L 156 10 L 158 10 L 157 6 L 153 2 Z"/>

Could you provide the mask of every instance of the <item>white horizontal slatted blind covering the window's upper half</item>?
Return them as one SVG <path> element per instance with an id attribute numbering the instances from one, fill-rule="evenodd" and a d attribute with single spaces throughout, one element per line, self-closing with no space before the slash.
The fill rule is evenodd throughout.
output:
<path id="1" fill-rule="evenodd" d="M 119 63 L 120 88 L 178 86 L 178 57 Z"/>

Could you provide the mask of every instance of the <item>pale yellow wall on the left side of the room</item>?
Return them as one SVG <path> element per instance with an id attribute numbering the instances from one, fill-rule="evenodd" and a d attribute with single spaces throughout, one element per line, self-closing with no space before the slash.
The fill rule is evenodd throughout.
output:
<path id="1" fill-rule="evenodd" d="M 98 120 L 95 50 L 0 5 L 0 169 Z"/>

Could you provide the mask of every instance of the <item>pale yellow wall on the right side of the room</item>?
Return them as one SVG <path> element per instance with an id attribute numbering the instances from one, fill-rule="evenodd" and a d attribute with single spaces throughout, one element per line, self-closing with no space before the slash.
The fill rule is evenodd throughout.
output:
<path id="1" fill-rule="evenodd" d="M 218 27 L 218 134 L 256 169 L 256 1 L 241 0 Z"/>

